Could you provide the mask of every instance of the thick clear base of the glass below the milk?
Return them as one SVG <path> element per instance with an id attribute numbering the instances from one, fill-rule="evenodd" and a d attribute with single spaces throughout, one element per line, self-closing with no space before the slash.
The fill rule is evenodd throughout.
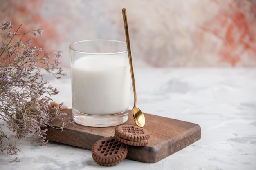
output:
<path id="1" fill-rule="evenodd" d="M 128 120 L 128 109 L 113 115 L 88 115 L 72 109 L 72 118 L 77 124 L 91 127 L 109 127 L 123 124 Z"/>

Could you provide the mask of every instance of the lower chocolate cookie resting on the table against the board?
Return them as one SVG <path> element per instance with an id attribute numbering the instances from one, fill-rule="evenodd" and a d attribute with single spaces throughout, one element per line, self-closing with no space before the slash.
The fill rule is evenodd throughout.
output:
<path id="1" fill-rule="evenodd" d="M 93 160 L 102 166 L 114 166 L 127 156 L 127 145 L 115 139 L 104 137 L 92 146 Z"/>

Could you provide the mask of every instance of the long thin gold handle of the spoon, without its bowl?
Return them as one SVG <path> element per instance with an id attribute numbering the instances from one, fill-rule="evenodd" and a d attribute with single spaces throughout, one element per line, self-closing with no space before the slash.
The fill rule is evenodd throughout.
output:
<path id="1" fill-rule="evenodd" d="M 124 20 L 124 31 L 125 31 L 125 35 L 126 35 L 126 45 L 127 45 L 127 51 L 128 51 L 128 57 L 129 57 L 129 63 L 130 63 L 130 72 L 131 72 L 131 77 L 132 77 L 132 89 L 133 89 L 133 95 L 134 95 L 133 108 L 135 108 L 136 103 L 137 103 L 137 95 L 136 95 L 135 79 L 134 79 L 133 66 L 132 66 L 132 53 L 131 53 L 131 46 L 130 46 L 126 9 L 123 8 L 122 12 L 123 12 L 123 20 Z"/>

